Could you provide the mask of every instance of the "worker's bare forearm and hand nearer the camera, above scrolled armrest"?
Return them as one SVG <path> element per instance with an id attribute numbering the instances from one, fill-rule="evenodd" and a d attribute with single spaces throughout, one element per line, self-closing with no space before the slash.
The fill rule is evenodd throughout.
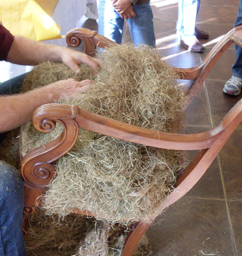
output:
<path id="1" fill-rule="evenodd" d="M 30 121 L 35 110 L 59 98 L 83 93 L 91 80 L 77 82 L 67 79 L 20 95 L 0 96 L 0 133 L 10 131 Z"/>

